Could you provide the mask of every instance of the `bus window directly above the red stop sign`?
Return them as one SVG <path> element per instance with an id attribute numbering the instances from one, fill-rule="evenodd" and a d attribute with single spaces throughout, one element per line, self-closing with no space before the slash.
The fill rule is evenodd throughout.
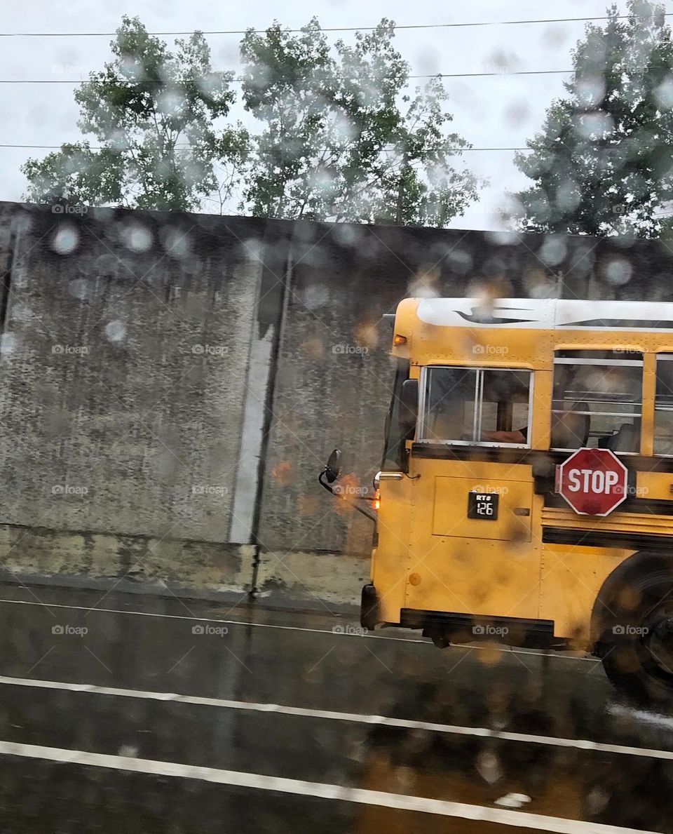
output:
<path id="1" fill-rule="evenodd" d="M 612 351 L 562 351 L 554 360 L 551 448 L 640 451 L 643 363 Z M 615 358 L 617 357 L 617 358 Z"/>

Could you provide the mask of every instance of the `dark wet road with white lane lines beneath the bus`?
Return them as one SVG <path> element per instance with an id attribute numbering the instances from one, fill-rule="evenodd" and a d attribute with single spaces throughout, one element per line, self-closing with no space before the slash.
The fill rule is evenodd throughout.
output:
<path id="1" fill-rule="evenodd" d="M 673 714 L 596 661 L 102 597 L 0 586 L 0 831 L 673 831 Z"/>

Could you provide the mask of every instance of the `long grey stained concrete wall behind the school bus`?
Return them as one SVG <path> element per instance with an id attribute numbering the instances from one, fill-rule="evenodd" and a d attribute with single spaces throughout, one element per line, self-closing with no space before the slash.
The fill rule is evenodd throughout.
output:
<path id="1" fill-rule="evenodd" d="M 665 241 L 0 203 L 0 561 L 354 601 L 371 525 L 316 477 L 334 446 L 354 483 L 379 469 L 382 314 L 485 284 L 670 299 L 670 255 Z"/>

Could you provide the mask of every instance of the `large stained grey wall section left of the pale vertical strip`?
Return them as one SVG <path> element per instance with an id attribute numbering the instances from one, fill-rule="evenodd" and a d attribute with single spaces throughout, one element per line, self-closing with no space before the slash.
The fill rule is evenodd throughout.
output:
<path id="1" fill-rule="evenodd" d="M 264 223 L 17 208 L 13 234 L 0 523 L 228 541 Z"/>

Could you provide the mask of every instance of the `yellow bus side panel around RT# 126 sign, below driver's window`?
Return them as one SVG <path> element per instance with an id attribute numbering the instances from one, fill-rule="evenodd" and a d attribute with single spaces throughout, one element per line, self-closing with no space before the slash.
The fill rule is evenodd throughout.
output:
<path id="1" fill-rule="evenodd" d="M 537 619 L 540 539 L 530 535 L 530 523 L 540 501 L 532 495 L 530 466 L 417 459 L 414 474 L 420 477 L 404 607 Z M 500 490 L 498 520 L 465 519 L 475 487 Z M 530 515 L 513 515 L 522 503 Z"/>

